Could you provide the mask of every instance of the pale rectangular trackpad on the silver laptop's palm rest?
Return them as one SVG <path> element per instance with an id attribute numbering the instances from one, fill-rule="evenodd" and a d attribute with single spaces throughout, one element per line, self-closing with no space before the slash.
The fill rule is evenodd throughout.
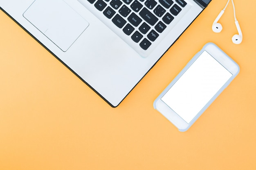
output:
<path id="1" fill-rule="evenodd" d="M 63 0 L 35 0 L 23 16 L 64 52 L 89 26 Z"/>

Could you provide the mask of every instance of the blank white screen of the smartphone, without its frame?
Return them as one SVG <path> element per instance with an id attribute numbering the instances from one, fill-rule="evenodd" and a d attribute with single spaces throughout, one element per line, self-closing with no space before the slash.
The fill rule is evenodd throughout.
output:
<path id="1" fill-rule="evenodd" d="M 161 100 L 189 124 L 231 76 L 204 51 Z"/>

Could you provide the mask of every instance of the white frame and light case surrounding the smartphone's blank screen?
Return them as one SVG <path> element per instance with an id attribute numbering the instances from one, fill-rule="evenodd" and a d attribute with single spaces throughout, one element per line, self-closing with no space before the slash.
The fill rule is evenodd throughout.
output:
<path id="1" fill-rule="evenodd" d="M 186 72 L 186 70 L 194 63 L 196 59 L 202 54 L 202 52 L 208 52 L 214 59 L 216 59 L 223 67 L 225 67 L 232 76 L 229 80 L 222 86 L 222 88 L 209 100 L 209 102 L 201 109 L 201 111 L 193 118 L 193 120 L 188 124 L 185 122 L 177 113 L 175 113 L 168 105 L 166 105 L 162 100 L 162 96 L 168 92 L 168 90 L 175 84 L 175 82 Z M 197 120 L 202 113 L 211 105 L 211 103 L 220 95 L 220 93 L 229 85 L 229 83 L 237 76 L 240 68 L 238 64 L 231 59 L 225 52 L 223 52 L 218 46 L 213 43 L 207 43 L 204 45 L 202 50 L 200 50 L 195 56 L 189 61 L 184 69 L 174 78 L 174 80 L 164 89 L 164 91 L 157 97 L 154 102 L 154 108 L 162 113 L 170 122 L 172 122 L 179 131 L 186 131 L 189 127 Z"/>

